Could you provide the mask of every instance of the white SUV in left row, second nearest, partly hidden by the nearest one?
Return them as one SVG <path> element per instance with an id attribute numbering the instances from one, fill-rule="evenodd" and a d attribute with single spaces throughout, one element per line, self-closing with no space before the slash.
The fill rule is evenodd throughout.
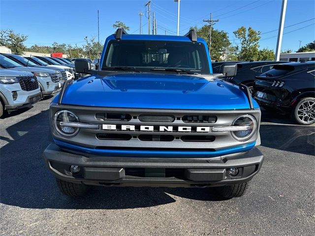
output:
<path id="1" fill-rule="evenodd" d="M 61 88 L 61 82 L 54 70 L 36 66 L 22 66 L 18 62 L 0 55 L 0 67 L 4 69 L 32 72 L 39 83 L 40 91 L 43 96 L 58 92 Z"/>

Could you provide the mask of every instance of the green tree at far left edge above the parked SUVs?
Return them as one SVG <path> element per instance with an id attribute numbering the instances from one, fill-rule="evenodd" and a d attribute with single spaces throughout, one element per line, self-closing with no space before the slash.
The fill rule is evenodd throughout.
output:
<path id="1" fill-rule="evenodd" d="M 23 54 L 23 51 L 26 50 L 24 42 L 27 39 L 27 35 L 15 33 L 12 29 L 0 30 L 0 45 L 11 49 L 13 54 Z"/>

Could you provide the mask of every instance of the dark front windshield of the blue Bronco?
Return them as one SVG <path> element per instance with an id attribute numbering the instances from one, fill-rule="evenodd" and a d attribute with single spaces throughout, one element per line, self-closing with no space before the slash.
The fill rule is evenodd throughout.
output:
<path id="1" fill-rule="evenodd" d="M 176 68 L 191 73 L 210 73 L 204 45 L 192 42 L 112 40 L 101 68 L 115 66 L 136 67 L 139 71 Z"/>

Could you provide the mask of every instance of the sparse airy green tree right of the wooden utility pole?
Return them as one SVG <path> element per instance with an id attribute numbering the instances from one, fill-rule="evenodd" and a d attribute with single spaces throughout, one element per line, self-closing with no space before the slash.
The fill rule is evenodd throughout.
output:
<path id="1" fill-rule="evenodd" d="M 240 40 L 241 46 L 237 46 L 237 58 L 239 60 L 257 60 L 259 55 L 260 31 L 256 31 L 244 26 L 233 32 L 235 37 Z"/>

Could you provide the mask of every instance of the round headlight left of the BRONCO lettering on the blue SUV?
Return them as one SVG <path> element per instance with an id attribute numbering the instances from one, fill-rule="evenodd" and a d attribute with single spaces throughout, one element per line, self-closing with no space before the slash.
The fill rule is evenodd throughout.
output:
<path id="1" fill-rule="evenodd" d="M 74 113 L 66 110 L 59 111 L 54 116 L 54 127 L 58 133 L 66 137 L 75 136 L 79 132 L 79 128 L 61 125 L 61 122 L 78 122 Z"/>

